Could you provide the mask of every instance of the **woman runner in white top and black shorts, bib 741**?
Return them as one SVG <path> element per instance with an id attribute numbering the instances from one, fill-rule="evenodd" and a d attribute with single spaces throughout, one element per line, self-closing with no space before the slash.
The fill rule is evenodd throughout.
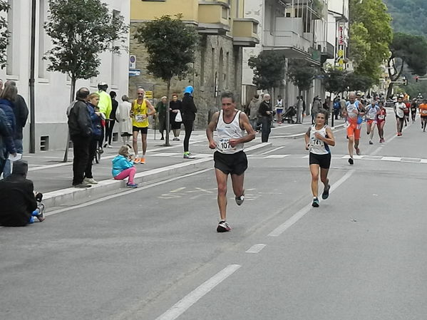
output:
<path id="1" fill-rule="evenodd" d="M 335 145 L 334 134 L 331 128 L 325 124 L 326 112 L 321 110 L 316 115 L 316 123 L 312 125 L 304 135 L 306 150 L 309 150 L 309 165 L 312 173 L 313 207 L 319 207 L 319 169 L 320 180 L 324 185 L 322 199 L 329 197 L 328 171 L 331 166 L 331 150 L 329 145 Z"/>

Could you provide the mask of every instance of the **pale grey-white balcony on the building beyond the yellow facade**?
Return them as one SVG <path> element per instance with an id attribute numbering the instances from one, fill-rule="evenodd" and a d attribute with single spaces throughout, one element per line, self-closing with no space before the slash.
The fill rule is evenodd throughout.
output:
<path id="1" fill-rule="evenodd" d="M 302 18 L 276 18 L 273 34 L 264 31 L 264 48 L 283 51 L 288 58 L 309 58 L 312 37 L 303 32 Z"/>

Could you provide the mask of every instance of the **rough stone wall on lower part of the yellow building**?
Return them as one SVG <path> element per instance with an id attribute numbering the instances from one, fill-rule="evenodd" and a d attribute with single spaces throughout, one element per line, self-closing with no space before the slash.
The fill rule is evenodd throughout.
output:
<path id="1" fill-rule="evenodd" d="M 154 98 L 157 100 L 166 95 L 167 85 L 146 71 L 148 53 L 133 35 L 142 23 L 130 24 L 130 54 L 136 56 L 136 68 L 140 76 L 129 78 L 129 96 L 135 98 L 139 86 L 154 86 Z M 196 52 L 195 63 L 187 78 L 173 78 L 171 93 L 182 97 L 185 86 L 195 88 L 194 98 L 197 106 L 195 128 L 206 128 L 210 115 L 220 108 L 221 91 L 228 89 L 236 94 L 237 108 L 241 104 L 242 91 L 242 48 L 233 46 L 229 36 L 201 36 L 199 50 Z M 215 94 L 216 93 L 216 94 Z"/>

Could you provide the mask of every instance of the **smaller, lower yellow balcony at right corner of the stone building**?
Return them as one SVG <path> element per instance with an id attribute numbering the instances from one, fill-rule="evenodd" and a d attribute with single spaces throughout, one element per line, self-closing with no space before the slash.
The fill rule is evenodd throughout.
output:
<path id="1" fill-rule="evenodd" d="M 254 47 L 259 43 L 258 24 L 255 19 L 233 19 L 233 44 Z"/>

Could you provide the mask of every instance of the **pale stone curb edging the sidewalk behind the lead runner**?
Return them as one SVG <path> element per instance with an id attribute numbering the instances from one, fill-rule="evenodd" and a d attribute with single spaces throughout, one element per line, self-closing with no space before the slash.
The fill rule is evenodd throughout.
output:
<path id="1" fill-rule="evenodd" d="M 250 151 L 271 146 L 272 143 L 259 143 L 258 145 L 252 145 L 249 148 L 245 148 L 245 152 L 249 153 Z M 197 170 L 205 169 L 208 164 L 211 164 L 211 162 L 212 157 L 200 158 L 189 162 L 182 162 L 175 165 L 168 165 L 166 167 L 159 167 L 153 170 L 139 172 L 135 175 L 135 182 L 143 183 L 182 173 L 195 172 Z M 94 198 L 105 195 L 108 192 L 117 192 L 119 189 L 124 190 L 125 183 L 125 180 L 108 179 L 101 180 L 98 182 L 98 185 L 92 185 L 92 187 L 89 188 L 78 189 L 75 187 L 69 187 L 66 189 L 46 192 L 43 194 L 43 204 L 46 205 L 46 207 L 61 207 L 74 201 L 82 202 L 83 200 L 93 200 Z"/>

